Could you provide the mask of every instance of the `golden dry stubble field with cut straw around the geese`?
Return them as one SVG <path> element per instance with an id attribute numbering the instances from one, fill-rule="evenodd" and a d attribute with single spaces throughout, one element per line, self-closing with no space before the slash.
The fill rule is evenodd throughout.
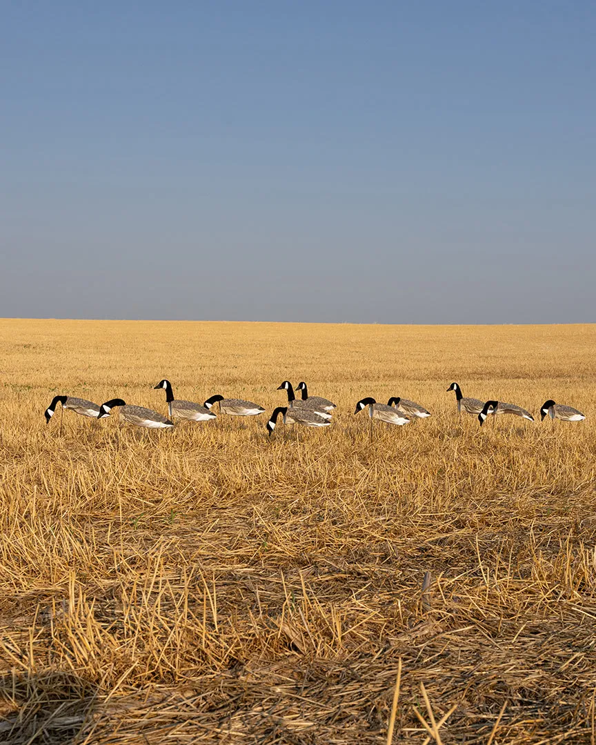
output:
<path id="1" fill-rule="evenodd" d="M 595 341 L 1 322 L 0 741 L 381 744 L 391 720 L 394 743 L 594 745 Z M 164 376 L 267 410 L 304 378 L 339 413 L 298 444 L 264 416 L 45 425 L 55 393 L 165 411 Z M 453 380 L 589 419 L 480 430 Z M 434 416 L 371 446 L 365 395 Z"/>

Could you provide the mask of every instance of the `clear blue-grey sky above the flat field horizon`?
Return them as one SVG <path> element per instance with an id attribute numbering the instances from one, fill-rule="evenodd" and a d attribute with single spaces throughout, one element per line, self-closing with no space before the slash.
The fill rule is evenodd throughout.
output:
<path id="1" fill-rule="evenodd" d="M 4 0 L 0 317 L 596 321 L 596 4 Z"/>

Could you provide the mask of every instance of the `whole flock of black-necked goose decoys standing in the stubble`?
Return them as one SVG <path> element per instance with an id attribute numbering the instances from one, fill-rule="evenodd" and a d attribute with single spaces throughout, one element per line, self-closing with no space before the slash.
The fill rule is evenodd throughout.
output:
<path id="1" fill-rule="evenodd" d="M 94 404 L 85 399 L 78 399 L 74 396 L 54 396 L 51 404 L 45 410 L 45 421 L 50 421 L 54 416 L 57 405 L 61 405 L 60 413 L 60 430 L 62 428 L 62 411 L 64 409 L 72 410 L 81 416 L 89 416 L 92 419 L 104 419 L 110 416 L 112 409 L 119 408 L 120 419 L 128 424 L 137 427 L 150 429 L 163 429 L 174 427 L 174 419 L 188 419 L 192 422 L 208 422 L 215 419 L 216 414 L 212 410 L 215 404 L 219 404 L 219 413 L 227 416 L 257 416 L 264 413 L 264 408 L 252 401 L 243 399 L 225 399 L 220 394 L 211 396 L 203 404 L 183 399 L 175 399 L 174 391 L 170 381 L 165 378 L 155 386 L 155 389 L 163 388 L 165 390 L 165 402 L 168 405 L 168 416 L 153 411 L 143 406 L 134 406 L 127 404 L 122 399 L 110 399 L 110 401 L 101 404 Z M 303 427 L 328 427 L 331 424 L 332 414 L 337 406 L 329 399 L 322 396 L 309 396 L 308 387 L 302 381 L 297 389 L 302 398 L 297 399 L 294 393 L 294 387 L 288 380 L 278 387 L 277 390 L 285 390 L 288 396 L 287 406 L 278 406 L 271 414 L 267 422 L 267 431 L 269 435 L 273 434 L 276 428 L 279 416 L 282 416 L 282 422 L 285 425 L 298 424 Z M 493 417 L 493 422 L 497 416 L 510 414 L 519 416 L 522 419 L 534 421 L 534 417 L 529 411 L 516 404 L 507 404 L 501 401 L 481 401 L 481 399 L 469 399 L 463 396 L 461 388 L 457 383 L 451 383 L 447 389 L 455 392 L 457 401 L 457 411 L 461 413 L 478 416 L 482 426 L 487 416 Z M 355 414 L 368 407 L 370 416 L 370 438 L 373 439 L 373 420 L 378 419 L 380 422 L 387 422 L 393 425 L 405 425 L 412 419 L 425 419 L 431 416 L 431 412 L 416 402 L 402 399 L 399 396 L 391 396 L 386 404 L 377 403 L 370 396 L 361 399 L 356 404 Z M 586 416 L 571 406 L 565 406 L 555 403 L 548 399 L 540 408 L 540 419 L 549 416 L 552 420 L 560 419 L 562 422 L 580 422 L 586 419 Z"/>

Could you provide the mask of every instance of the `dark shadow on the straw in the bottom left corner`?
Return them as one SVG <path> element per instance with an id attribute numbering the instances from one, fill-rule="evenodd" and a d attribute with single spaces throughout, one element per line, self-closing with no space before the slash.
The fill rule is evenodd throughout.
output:
<path id="1" fill-rule="evenodd" d="M 74 673 L 1 676 L 0 743 L 74 743 L 89 723 L 95 697 L 95 687 Z"/>

